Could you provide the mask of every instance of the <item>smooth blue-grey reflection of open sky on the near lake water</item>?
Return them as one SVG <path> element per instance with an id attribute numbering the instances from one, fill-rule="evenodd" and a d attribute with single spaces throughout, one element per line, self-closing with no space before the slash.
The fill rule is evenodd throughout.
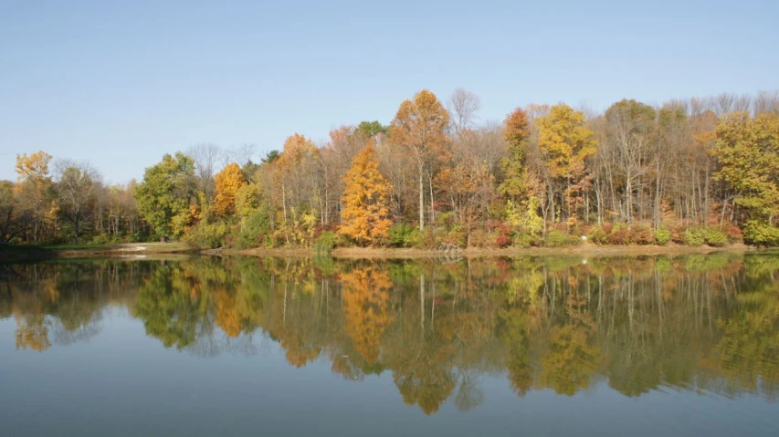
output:
<path id="1" fill-rule="evenodd" d="M 179 351 L 147 336 L 120 304 L 91 320 L 68 331 L 47 317 L 52 346 L 43 353 L 16 350 L 15 318 L 0 320 L 0 434 L 741 436 L 779 429 L 779 404 L 762 396 L 729 399 L 688 385 L 630 398 L 596 374 L 571 397 L 544 389 L 520 398 L 505 370 L 469 370 L 483 396 L 471 410 L 456 405 L 456 387 L 426 415 L 404 403 L 389 369 L 344 380 L 327 353 L 298 369 L 262 329 L 230 338 L 217 328 Z"/>

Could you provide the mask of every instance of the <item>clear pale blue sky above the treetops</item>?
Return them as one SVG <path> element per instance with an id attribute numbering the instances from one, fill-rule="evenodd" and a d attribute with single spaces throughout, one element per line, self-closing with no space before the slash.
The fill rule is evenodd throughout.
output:
<path id="1" fill-rule="evenodd" d="M 386 124 L 427 88 L 596 111 L 779 88 L 775 1 L 0 0 L 0 180 L 17 153 L 142 179 L 164 153 Z"/>

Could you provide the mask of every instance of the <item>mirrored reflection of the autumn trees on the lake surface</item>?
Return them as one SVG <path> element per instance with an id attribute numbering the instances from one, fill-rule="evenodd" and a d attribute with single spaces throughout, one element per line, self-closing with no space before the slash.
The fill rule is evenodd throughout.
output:
<path id="1" fill-rule="evenodd" d="M 206 258 L 4 266 L 0 317 L 16 349 L 100 335 L 126 307 L 165 348 L 326 359 L 346 380 L 391 372 L 427 414 L 479 405 L 479 375 L 518 395 L 573 396 L 598 381 L 752 393 L 779 383 L 779 256 L 526 257 L 423 261 Z"/>

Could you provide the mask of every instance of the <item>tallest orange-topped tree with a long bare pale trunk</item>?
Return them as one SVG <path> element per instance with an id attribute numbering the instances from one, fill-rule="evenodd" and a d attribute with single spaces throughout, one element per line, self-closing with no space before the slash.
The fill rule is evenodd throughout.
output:
<path id="1" fill-rule="evenodd" d="M 389 132 L 395 145 L 403 147 L 416 163 L 419 182 L 419 229 L 425 228 L 425 175 L 432 175 L 436 161 L 447 153 L 445 130 L 449 123 L 447 109 L 436 95 L 423 89 L 413 100 L 400 104 Z M 432 181 L 432 177 L 428 178 Z M 433 211 L 433 189 L 430 188 L 430 211 Z"/>

